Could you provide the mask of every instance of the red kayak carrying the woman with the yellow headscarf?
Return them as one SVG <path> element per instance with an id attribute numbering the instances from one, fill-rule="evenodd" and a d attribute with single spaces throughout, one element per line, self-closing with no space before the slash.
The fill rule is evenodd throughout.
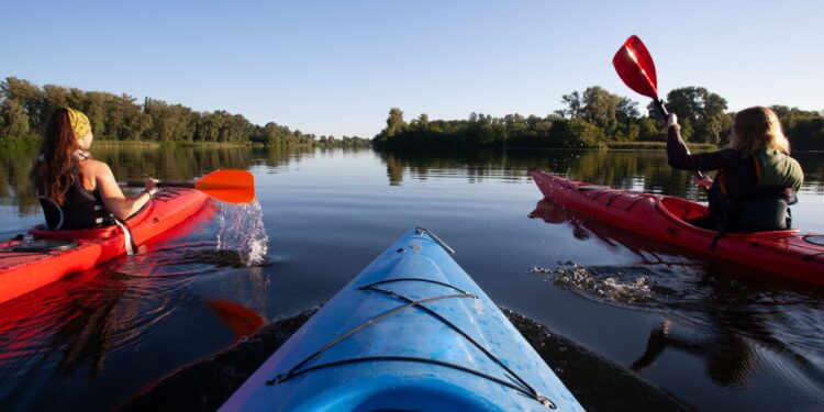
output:
<path id="1" fill-rule="evenodd" d="M 158 192 L 126 221 L 134 245 L 142 246 L 187 221 L 208 198 L 190 189 Z M 29 233 L 33 240 L 0 242 L 0 302 L 126 254 L 126 237 L 118 226 Z"/>

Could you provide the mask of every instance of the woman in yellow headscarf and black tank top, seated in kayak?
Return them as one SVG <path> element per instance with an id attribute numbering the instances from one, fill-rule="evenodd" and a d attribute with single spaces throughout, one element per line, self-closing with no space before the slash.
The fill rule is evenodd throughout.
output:
<path id="1" fill-rule="evenodd" d="M 91 158 L 93 135 L 86 114 L 69 108 L 55 110 L 46 124 L 40 155 L 31 171 L 47 230 L 79 230 L 125 220 L 157 191 L 146 179 L 137 196 L 125 197 L 103 162 Z"/>

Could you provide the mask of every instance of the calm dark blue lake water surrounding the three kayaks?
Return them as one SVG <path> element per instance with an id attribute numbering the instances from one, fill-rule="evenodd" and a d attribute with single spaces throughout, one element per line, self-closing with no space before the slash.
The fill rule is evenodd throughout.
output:
<path id="1" fill-rule="evenodd" d="M 237 321 L 249 309 L 269 322 L 322 303 L 416 225 L 453 246 L 498 304 L 691 407 L 824 404 L 824 290 L 754 280 L 748 269 L 593 224 L 542 201 L 527 172 L 537 166 L 704 200 L 690 174 L 671 170 L 661 153 L 101 148 L 94 155 L 122 179 L 252 170 L 269 236 L 267 264 L 247 267 L 218 250 L 218 234 L 238 224 L 238 211 L 214 204 L 185 235 L 149 254 L 0 303 L 0 409 L 112 409 L 254 331 L 256 324 Z M 824 232 L 824 162 L 821 154 L 797 157 L 806 183 L 795 222 Z M 0 238 L 42 221 L 26 192 L 31 158 L 0 154 Z M 624 389 L 601 393 L 620 399 Z"/>

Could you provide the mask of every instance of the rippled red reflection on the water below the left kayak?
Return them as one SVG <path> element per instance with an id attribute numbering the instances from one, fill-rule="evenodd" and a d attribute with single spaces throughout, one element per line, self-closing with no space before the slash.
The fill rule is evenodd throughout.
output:
<path id="1" fill-rule="evenodd" d="M 177 310 L 202 304 L 186 288 L 226 266 L 244 266 L 215 242 L 168 244 L 109 264 L 0 304 L 0 376 L 16 379 L 0 388 L 0 403 L 54 370 L 88 368 L 91 376 L 112 354 L 151 339 Z"/>

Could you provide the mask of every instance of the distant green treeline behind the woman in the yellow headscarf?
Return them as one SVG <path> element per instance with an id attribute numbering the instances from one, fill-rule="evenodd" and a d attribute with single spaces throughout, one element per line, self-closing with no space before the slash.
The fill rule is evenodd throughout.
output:
<path id="1" fill-rule="evenodd" d="M 218 110 L 197 112 L 181 104 L 169 104 L 146 98 L 135 103 L 129 94 L 83 91 L 76 88 L 35 86 L 26 80 L 8 77 L 0 82 L 0 137 L 34 140 L 41 135 L 51 113 L 71 107 L 86 113 L 94 138 L 104 141 L 144 142 L 215 142 L 259 143 L 267 146 L 321 145 L 369 146 L 370 141 L 357 136 L 320 136 L 274 122 L 260 126 L 241 114 Z"/>

